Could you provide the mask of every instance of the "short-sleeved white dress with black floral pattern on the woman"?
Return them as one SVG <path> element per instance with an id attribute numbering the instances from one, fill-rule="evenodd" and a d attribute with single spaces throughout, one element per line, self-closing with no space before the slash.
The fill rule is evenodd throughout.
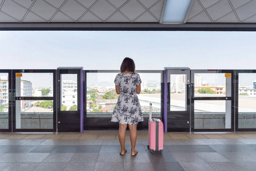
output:
<path id="1" fill-rule="evenodd" d="M 129 125 L 137 125 L 143 121 L 140 101 L 136 94 L 136 88 L 140 83 L 140 75 L 135 72 L 116 75 L 115 84 L 120 87 L 120 95 L 111 121 Z"/>

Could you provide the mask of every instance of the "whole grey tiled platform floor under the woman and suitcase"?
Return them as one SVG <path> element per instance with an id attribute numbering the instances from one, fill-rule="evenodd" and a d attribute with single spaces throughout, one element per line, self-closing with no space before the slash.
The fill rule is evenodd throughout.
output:
<path id="1" fill-rule="evenodd" d="M 117 131 L 0 133 L 0 170 L 256 170 L 256 133 L 165 133 L 164 151 L 151 153 L 138 131 L 120 156 Z"/>

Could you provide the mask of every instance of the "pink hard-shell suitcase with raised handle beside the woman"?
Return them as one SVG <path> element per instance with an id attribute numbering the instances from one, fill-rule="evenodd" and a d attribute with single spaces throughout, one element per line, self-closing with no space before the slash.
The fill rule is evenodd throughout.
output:
<path id="1" fill-rule="evenodd" d="M 152 119 L 152 103 L 149 104 L 148 148 L 153 151 L 164 149 L 164 125 L 160 119 Z"/>

